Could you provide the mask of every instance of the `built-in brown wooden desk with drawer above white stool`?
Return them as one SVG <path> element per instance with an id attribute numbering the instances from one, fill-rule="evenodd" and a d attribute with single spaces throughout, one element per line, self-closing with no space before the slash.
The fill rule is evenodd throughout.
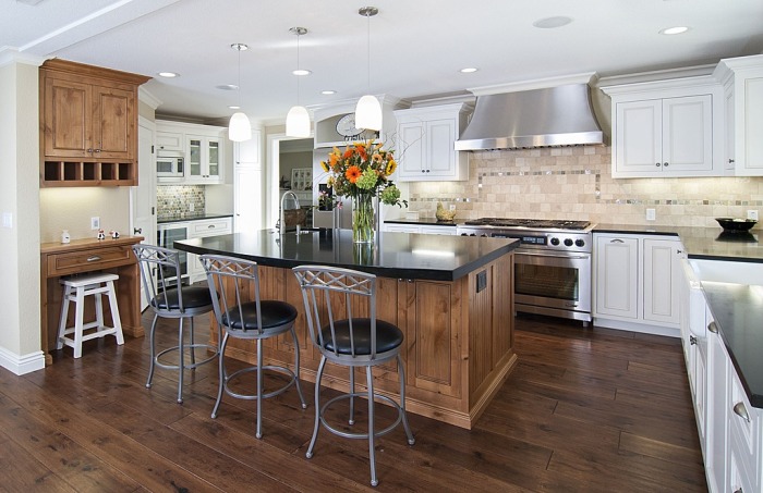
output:
<path id="1" fill-rule="evenodd" d="M 141 271 L 132 251 L 132 246 L 142 241 L 143 236 L 124 236 L 117 239 L 73 239 L 65 245 L 40 245 L 40 340 L 46 365 L 52 362 L 48 352 L 56 348 L 62 295 L 59 278 L 62 275 L 93 271 L 118 274 L 117 304 L 122 332 L 133 337 L 144 335 L 141 323 Z"/>

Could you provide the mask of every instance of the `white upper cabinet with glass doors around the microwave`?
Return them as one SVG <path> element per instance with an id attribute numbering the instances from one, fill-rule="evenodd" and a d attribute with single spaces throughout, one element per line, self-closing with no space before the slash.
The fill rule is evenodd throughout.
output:
<path id="1" fill-rule="evenodd" d="M 158 150 L 182 153 L 185 164 L 182 178 L 159 176 L 159 184 L 225 183 L 225 170 L 230 162 L 230 152 L 226 161 L 226 128 L 166 120 L 157 120 L 156 127 Z"/>

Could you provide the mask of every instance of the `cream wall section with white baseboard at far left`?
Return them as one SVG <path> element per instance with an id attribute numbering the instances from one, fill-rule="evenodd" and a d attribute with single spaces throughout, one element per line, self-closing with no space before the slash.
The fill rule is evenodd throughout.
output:
<path id="1" fill-rule="evenodd" d="M 43 368 L 39 264 L 38 63 L 0 66 L 0 365 L 16 373 Z"/>

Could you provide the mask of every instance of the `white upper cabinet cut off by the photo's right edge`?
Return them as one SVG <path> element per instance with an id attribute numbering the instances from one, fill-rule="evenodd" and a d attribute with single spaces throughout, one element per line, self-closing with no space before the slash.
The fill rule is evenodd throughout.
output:
<path id="1" fill-rule="evenodd" d="M 720 60 L 714 75 L 724 85 L 727 168 L 738 176 L 763 175 L 763 54 Z"/>

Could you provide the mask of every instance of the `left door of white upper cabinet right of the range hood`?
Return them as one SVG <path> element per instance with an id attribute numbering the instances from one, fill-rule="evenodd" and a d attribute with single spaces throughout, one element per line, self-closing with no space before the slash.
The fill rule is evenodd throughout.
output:
<path id="1" fill-rule="evenodd" d="M 662 101 L 617 103 L 617 171 L 653 173 L 662 161 Z"/>

